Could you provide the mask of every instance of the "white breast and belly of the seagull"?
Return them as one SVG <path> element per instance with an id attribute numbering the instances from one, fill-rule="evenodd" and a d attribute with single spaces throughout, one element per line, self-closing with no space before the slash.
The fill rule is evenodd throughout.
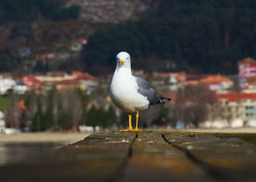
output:
<path id="1" fill-rule="evenodd" d="M 133 113 L 148 108 L 148 99 L 138 92 L 138 84 L 129 70 L 116 71 L 110 86 L 113 103 L 124 111 Z"/>

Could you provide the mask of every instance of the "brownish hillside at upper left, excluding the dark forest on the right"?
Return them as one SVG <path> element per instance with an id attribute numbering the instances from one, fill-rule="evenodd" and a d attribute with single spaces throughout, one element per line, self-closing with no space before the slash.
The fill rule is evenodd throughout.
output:
<path id="1" fill-rule="evenodd" d="M 0 72 L 21 71 L 38 54 L 69 52 L 73 39 L 88 38 L 111 24 L 137 20 L 154 4 L 151 0 L 0 1 Z M 24 47 L 29 47 L 31 55 L 20 58 L 18 51 Z M 64 69 L 70 67 L 64 64 Z"/>

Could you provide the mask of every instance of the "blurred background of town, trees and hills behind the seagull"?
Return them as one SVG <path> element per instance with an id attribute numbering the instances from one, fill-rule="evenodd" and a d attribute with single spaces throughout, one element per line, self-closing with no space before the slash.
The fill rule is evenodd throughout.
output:
<path id="1" fill-rule="evenodd" d="M 140 127 L 252 131 L 255 42 L 254 0 L 1 0 L 0 141 L 127 127 L 109 97 L 120 51 L 173 99 L 141 113 Z"/>

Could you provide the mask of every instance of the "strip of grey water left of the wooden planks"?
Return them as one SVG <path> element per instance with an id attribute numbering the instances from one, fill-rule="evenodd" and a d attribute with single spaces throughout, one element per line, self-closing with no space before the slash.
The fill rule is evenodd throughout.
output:
<path id="1" fill-rule="evenodd" d="M 41 152 L 58 149 L 64 143 L 0 143 L 0 166 L 10 162 L 18 162 Z"/>

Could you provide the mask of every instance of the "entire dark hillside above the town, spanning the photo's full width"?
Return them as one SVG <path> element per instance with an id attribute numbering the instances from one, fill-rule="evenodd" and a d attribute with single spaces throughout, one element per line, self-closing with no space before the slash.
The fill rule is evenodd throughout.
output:
<path id="1" fill-rule="evenodd" d="M 74 59 L 94 74 L 112 71 L 121 50 L 147 71 L 236 74 L 238 60 L 256 58 L 255 9 L 253 0 L 3 0 L 0 71 L 20 70 L 45 52 L 69 52 L 73 39 L 89 38 Z M 29 58 L 19 58 L 23 47 Z M 52 67 L 73 68 L 61 64 Z"/>

